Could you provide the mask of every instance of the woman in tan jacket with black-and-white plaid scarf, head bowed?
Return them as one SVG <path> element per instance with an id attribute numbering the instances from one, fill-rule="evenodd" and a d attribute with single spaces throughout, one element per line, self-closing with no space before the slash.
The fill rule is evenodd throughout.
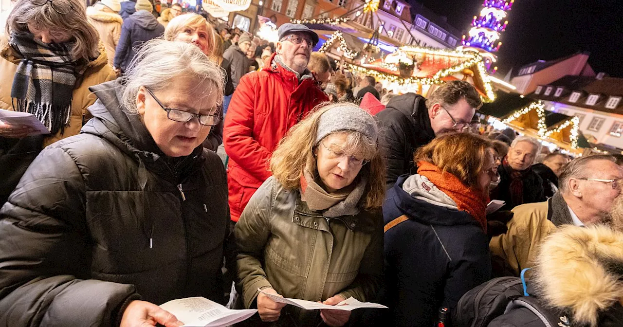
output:
<path id="1" fill-rule="evenodd" d="M 116 77 L 78 0 L 19 0 L 0 36 L 0 109 L 33 114 L 50 132 L 0 120 L 0 206 L 45 146 L 76 135 L 95 102 L 88 87 Z"/>

